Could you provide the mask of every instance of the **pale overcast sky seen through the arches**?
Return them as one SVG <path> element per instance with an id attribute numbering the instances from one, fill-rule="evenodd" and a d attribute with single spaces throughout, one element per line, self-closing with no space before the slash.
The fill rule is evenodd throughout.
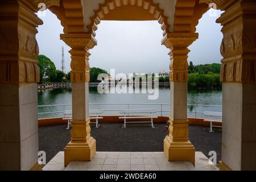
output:
<path id="1" fill-rule="evenodd" d="M 188 61 L 194 64 L 220 63 L 221 26 L 215 23 L 220 16 L 205 13 L 197 26 L 199 39 L 190 46 Z M 70 71 L 69 47 L 60 40 L 63 33 L 60 21 L 50 11 L 40 17 L 44 24 L 38 28 L 37 40 L 40 54 L 49 57 L 61 68 L 61 47 L 64 46 L 66 72 Z M 117 73 L 159 73 L 169 71 L 169 50 L 161 45 L 163 38 L 156 21 L 117 22 L 102 21 L 96 31 L 98 46 L 90 50 L 90 67 L 100 67 Z"/>

